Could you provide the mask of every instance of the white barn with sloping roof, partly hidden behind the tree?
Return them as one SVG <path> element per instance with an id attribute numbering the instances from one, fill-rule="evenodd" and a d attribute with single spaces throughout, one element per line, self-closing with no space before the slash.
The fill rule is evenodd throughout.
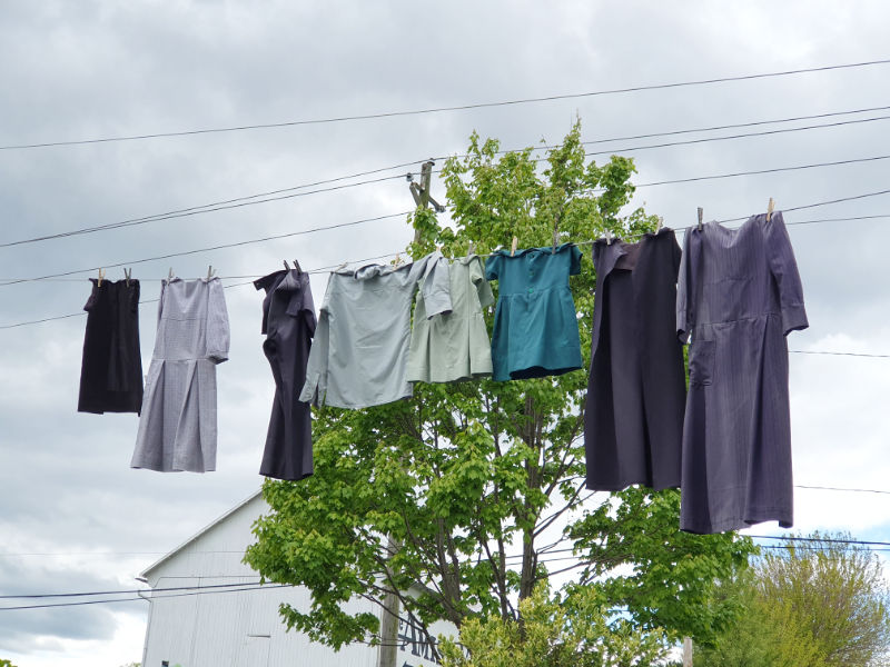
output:
<path id="1" fill-rule="evenodd" d="M 376 667 L 376 647 L 352 645 L 336 653 L 306 635 L 287 631 L 278 606 L 288 603 L 308 609 L 309 591 L 274 584 L 260 588 L 257 573 L 241 563 L 246 547 L 255 541 L 251 525 L 268 511 L 257 492 L 140 575 L 152 589 L 181 589 L 154 590 L 147 597 L 142 667 Z M 218 588 L 195 595 L 188 590 L 195 586 Z M 378 613 L 365 600 L 350 605 Z M 442 623 L 431 633 L 451 635 L 454 629 Z M 399 624 L 398 667 L 435 667 L 436 658 L 435 647 L 417 628 Z"/>

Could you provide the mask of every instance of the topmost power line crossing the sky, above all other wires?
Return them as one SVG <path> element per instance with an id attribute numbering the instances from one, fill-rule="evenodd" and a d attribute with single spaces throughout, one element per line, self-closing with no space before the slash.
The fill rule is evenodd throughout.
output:
<path id="1" fill-rule="evenodd" d="M 120 137 L 105 137 L 105 138 L 96 138 L 96 139 L 75 139 L 75 140 L 61 140 L 61 141 L 46 141 L 39 143 L 19 143 L 19 145 L 7 145 L 0 146 L 0 150 L 20 150 L 20 149 L 33 149 L 33 148 L 50 148 L 50 147 L 59 147 L 59 146 L 82 146 L 89 143 L 108 143 L 113 141 L 137 141 L 137 140 L 145 140 L 145 139 L 159 139 L 164 137 L 186 137 L 186 136 L 194 136 L 194 135 L 210 135 L 210 133 L 219 133 L 219 132 L 236 132 L 236 131 L 244 131 L 244 130 L 260 130 L 260 129 L 273 129 L 273 128 L 285 128 L 285 127 L 296 127 L 296 126 L 307 126 L 307 125 L 325 125 L 325 123 L 335 123 L 335 122 L 348 122 L 348 121 L 356 121 L 356 120 L 374 120 L 380 118 L 394 118 L 394 117 L 403 117 L 403 116 L 419 116 L 419 115 L 427 115 L 427 113 L 442 113 L 447 111 L 466 111 L 472 109 L 485 109 L 485 108 L 495 108 L 495 107 L 508 107 L 508 106 L 517 106 L 517 104 L 528 104 L 528 103 L 536 103 L 536 102 L 548 102 L 548 101 L 557 101 L 557 100 L 568 100 L 568 99 L 580 99 L 580 98 L 590 98 L 590 97 L 601 97 L 601 96 L 609 96 L 609 94 L 620 94 L 620 93 L 629 93 L 629 92 L 641 92 L 645 90 L 665 90 L 672 88 L 684 88 L 691 86 L 706 86 L 713 83 L 726 83 L 731 81 L 750 81 L 754 79 L 768 79 L 768 78 L 775 78 L 775 77 L 789 77 L 794 74 L 803 74 L 803 73 L 811 73 L 811 72 L 823 72 L 823 71 L 831 71 L 831 70 L 841 70 L 841 69 L 853 69 L 853 68 L 861 68 L 861 67 L 872 67 L 878 64 L 888 64 L 890 63 L 890 59 L 882 59 L 882 60 L 869 60 L 862 62 L 851 62 L 844 64 L 830 64 L 823 67 L 812 67 L 812 68 L 801 68 L 801 69 L 793 69 L 793 70 L 783 70 L 783 71 L 775 71 L 775 72 L 761 72 L 761 73 L 753 73 L 753 74 L 741 74 L 734 77 L 715 77 L 711 79 L 699 79 L 692 81 L 675 81 L 670 83 L 654 83 L 647 86 L 634 86 L 629 88 L 613 88 L 613 89 L 605 89 L 605 90 L 595 90 L 589 92 L 575 92 L 575 93 L 566 93 L 566 94 L 553 94 L 553 96 L 542 96 L 542 97 L 534 97 L 534 98 L 520 98 L 513 100 L 502 100 L 495 102 L 475 102 L 469 104 L 455 104 L 449 107 L 429 107 L 425 109 L 412 109 L 412 110 L 403 110 L 403 111 L 383 111 L 377 113 L 363 113 L 363 115 L 355 115 L 355 116 L 338 116 L 338 117 L 329 117 L 329 118 L 316 118 L 316 119 L 306 119 L 306 120 L 289 120 L 284 122 L 274 122 L 274 123 L 254 123 L 254 125 L 240 125 L 240 126 L 230 126 L 230 127 L 222 127 L 222 128 L 201 128 L 195 130 L 180 130 L 180 131 L 172 131 L 172 132 L 151 132 L 151 133 L 141 133 L 141 135 L 129 135 L 129 136 L 120 136 Z"/>

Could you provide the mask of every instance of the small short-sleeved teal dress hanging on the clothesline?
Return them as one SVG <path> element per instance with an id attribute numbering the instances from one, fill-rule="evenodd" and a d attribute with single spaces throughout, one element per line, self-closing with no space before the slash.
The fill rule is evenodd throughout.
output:
<path id="1" fill-rule="evenodd" d="M 494 252 L 485 277 L 497 280 L 492 336 L 495 380 L 561 375 L 582 367 L 577 316 L 568 276 L 581 272 L 574 243 Z"/>

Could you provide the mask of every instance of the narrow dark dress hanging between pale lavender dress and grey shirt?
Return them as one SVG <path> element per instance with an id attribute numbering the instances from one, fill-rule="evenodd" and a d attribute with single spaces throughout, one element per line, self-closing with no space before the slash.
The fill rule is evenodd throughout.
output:
<path id="1" fill-rule="evenodd" d="M 266 449 L 259 474 L 298 480 L 313 474 L 312 409 L 298 400 L 315 335 L 315 306 L 309 275 L 290 269 L 254 282 L 263 300 L 263 351 L 275 378 Z"/>

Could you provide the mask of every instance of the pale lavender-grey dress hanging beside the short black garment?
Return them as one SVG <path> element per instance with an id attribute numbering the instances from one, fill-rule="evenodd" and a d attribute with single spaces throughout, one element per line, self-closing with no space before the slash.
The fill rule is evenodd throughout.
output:
<path id="1" fill-rule="evenodd" d="M 132 468 L 216 469 L 216 366 L 228 354 L 219 278 L 164 280 Z"/>

